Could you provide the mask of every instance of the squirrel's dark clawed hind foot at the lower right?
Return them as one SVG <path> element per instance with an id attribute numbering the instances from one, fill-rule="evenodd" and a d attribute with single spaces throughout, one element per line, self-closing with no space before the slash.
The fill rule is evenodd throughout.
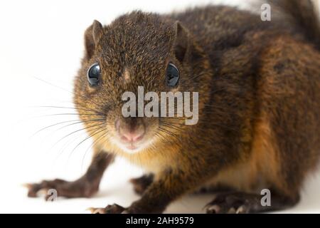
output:
<path id="1" fill-rule="evenodd" d="M 264 195 L 246 192 L 224 192 L 215 195 L 215 198 L 206 205 L 208 214 L 248 214 L 270 212 L 293 207 L 299 202 L 297 197 L 285 195 L 270 195 L 270 204 L 262 202 Z"/>

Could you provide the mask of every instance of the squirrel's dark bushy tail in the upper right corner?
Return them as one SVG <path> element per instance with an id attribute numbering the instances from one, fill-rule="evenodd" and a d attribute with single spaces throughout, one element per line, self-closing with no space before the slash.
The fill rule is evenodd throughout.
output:
<path id="1" fill-rule="evenodd" d="M 320 50 L 319 11 L 311 0 L 269 0 Z"/>

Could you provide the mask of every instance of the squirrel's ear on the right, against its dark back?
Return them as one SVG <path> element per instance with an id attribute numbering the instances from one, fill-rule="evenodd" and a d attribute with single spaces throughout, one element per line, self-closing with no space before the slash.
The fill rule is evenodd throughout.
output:
<path id="1" fill-rule="evenodd" d="M 174 23 L 175 37 L 174 37 L 174 54 L 178 61 L 182 62 L 188 50 L 189 36 L 188 31 L 179 21 Z"/>

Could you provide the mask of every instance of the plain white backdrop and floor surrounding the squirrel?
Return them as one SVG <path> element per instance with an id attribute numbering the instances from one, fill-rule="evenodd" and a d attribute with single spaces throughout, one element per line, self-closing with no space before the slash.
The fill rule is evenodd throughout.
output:
<path id="1" fill-rule="evenodd" d="M 40 108 L 58 105 L 73 107 L 73 77 L 83 52 L 83 33 L 93 19 L 108 24 L 117 16 L 142 9 L 168 12 L 213 1 L 1 1 L 0 3 L 0 212 L 83 213 L 87 207 L 105 207 L 117 202 L 128 206 L 138 199 L 129 177 L 142 170 L 118 159 L 105 173 L 100 192 L 92 199 L 59 199 L 45 202 L 29 199 L 21 187 L 25 182 L 60 177 L 74 180 L 90 162 L 90 140 L 81 125 L 56 125 L 76 120 L 72 109 Z M 215 1 L 237 5 L 240 1 Z M 246 6 L 248 1 L 245 1 Z M 51 116 L 48 116 L 51 115 Z M 57 143 L 58 142 L 58 143 Z M 87 150 L 89 148 L 89 150 Z M 320 212 L 320 177 L 309 177 L 302 202 L 287 212 Z M 186 196 L 166 212 L 203 212 L 211 195 Z"/>

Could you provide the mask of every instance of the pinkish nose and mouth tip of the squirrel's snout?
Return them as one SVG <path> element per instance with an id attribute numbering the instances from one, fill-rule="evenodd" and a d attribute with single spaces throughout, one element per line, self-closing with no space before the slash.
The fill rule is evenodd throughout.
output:
<path id="1" fill-rule="evenodd" d="M 137 118 L 129 120 L 116 120 L 115 126 L 123 142 L 138 142 L 146 133 L 144 123 Z"/>

